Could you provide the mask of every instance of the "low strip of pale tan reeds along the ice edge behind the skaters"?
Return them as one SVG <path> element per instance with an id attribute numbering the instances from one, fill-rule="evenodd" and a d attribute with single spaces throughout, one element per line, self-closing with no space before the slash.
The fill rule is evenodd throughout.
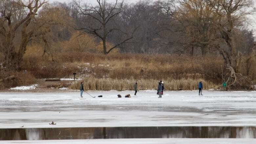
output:
<path id="1" fill-rule="evenodd" d="M 198 89 L 198 83 L 202 79 L 166 79 L 164 82 L 165 90 L 196 90 Z M 203 81 L 204 89 L 214 89 L 218 86 L 209 81 Z M 112 79 L 112 78 L 94 78 L 87 77 L 83 80 L 84 90 L 92 91 L 110 91 L 110 90 L 133 90 L 135 82 L 138 82 L 139 90 L 156 90 L 158 86 L 158 80 L 154 79 Z M 78 90 L 80 88 L 81 81 L 76 81 L 70 85 L 70 89 Z"/>

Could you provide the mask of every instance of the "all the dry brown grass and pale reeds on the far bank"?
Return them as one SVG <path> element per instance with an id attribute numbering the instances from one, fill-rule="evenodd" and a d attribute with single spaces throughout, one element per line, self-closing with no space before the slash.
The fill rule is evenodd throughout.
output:
<path id="1" fill-rule="evenodd" d="M 211 89 L 222 83 L 221 66 L 224 66 L 222 57 L 216 56 L 60 52 L 54 54 L 52 59 L 51 56 L 39 53 L 39 50 L 28 50 L 24 57 L 22 70 L 27 70 L 30 77 L 70 78 L 76 72 L 77 77 L 87 77 L 87 90 L 131 90 L 135 81 L 140 83 L 143 90 L 155 89 L 159 80 L 166 82 L 167 90 L 194 90 L 200 79 L 204 81 L 206 89 Z M 254 52 L 240 57 L 237 64 L 239 72 L 253 80 L 256 78 L 255 58 Z M 6 86 L 19 83 L 8 83 Z M 24 85 L 27 83 L 31 82 L 24 82 Z M 67 86 L 76 89 L 76 85 Z"/>

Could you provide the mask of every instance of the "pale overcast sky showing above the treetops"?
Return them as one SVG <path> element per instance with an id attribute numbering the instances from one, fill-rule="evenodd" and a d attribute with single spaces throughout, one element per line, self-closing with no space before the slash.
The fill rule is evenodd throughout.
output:
<path id="1" fill-rule="evenodd" d="M 48 0 L 50 3 L 54 2 L 54 1 L 58 1 L 58 2 L 70 2 L 72 0 Z M 87 3 L 96 3 L 96 0 L 83 0 L 84 2 Z M 126 3 L 136 3 L 139 0 L 124 0 Z M 155 0 L 153 0 L 155 1 Z M 115 2 L 115 0 L 108 0 L 108 2 Z M 256 7 L 256 2 L 255 2 L 255 7 Z M 254 16 L 250 16 L 251 19 L 251 26 L 249 26 L 250 29 L 254 30 L 254 35 L 256 35 L 256 14 Z"/>

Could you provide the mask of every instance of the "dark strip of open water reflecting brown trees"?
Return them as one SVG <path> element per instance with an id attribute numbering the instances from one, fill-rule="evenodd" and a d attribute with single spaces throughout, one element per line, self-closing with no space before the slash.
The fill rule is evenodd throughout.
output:
<path id="1" fill-rule="evenodd" d="M 255 132 L 256 127 L 25 128 L 0 129 L 0 140 L 101 138 L 256 138 Z"/>

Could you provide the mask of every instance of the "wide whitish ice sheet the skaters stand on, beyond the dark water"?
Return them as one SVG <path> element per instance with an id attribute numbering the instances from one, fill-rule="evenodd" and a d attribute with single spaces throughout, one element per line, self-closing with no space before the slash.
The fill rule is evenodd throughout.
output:
<path id="1" fill-rule="evenodd" d="M 78 91 L 0 93 L 0 128 L 256 126 L 255 91 L 164 92 L 162 98 L 156 91 L 89 93 L 96 98 L 79 99 Z"/>

